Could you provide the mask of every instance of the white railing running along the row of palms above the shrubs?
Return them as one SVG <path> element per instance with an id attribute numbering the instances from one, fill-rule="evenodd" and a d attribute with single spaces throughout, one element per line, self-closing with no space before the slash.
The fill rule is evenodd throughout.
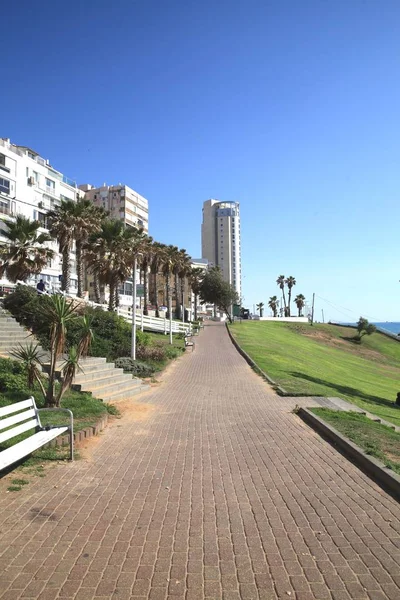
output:
<path id="1" fill-rule="evenodd" d="M 26 283 L 24 281 L 17 281 L 17 284 L 26 285 L 27 287 L 34 288 L 33 285 Z M 39 294 L 44 294 L 46 296 L 50 296 L 48 292 L 40 292 Z M 86 300 L 84 298 L 77 298 L 77 296 L 73 296 L 72 294 L 65 294 L 61 290 L 57 290 L 58 294 L 63 294 L 67 296 L 67 298 L 71 298 L 72 300 L 78 300 L 79 302 L 84 302 L 88 306 L 93 308 L 101 308 L 102 310 L 108 310 L 106 304 L 96 304 L 96 302 L 92 302 L 91 300 Z M 123 317 L 125 321 L 129 324 L 132 323 L 132 311 L 127 308 L 118 307 L 115 311 L 119 316 Z M 166 314 L 166 313 L 165 313 Z M 166 317 L 151 317 L 143 314 L 143 310 L 136 309 L 136 327 L 141 329 L 142 331 L 157 331 L 160 333 L 170 332 L 170 324 L 172 333 L 190 333 L 192 331 L 191 323 L 183 323 L 182 321 L 175 321 L 174 319 L 167 319 Z"/>

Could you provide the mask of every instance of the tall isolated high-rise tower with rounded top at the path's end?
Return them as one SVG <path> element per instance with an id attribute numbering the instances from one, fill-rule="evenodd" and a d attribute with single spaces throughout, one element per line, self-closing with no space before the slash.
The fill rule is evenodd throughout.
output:
<path id="1" fill-rule="evenodd" d="M 239 202 L 206 200 L 203 204 L 201 250 L 210 266 L 220 267 L 223 278 L 242 296 Z"/>

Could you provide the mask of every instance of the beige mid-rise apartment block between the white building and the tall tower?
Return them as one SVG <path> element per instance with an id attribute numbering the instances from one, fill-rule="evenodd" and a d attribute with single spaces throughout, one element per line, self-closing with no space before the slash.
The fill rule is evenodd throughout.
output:
<path id="1" fill-rule="evenodd" d="M 105 208 L 112 219 L 118 219 L 131 227 L 141 227 L 145 233 L 149 231 L 149 203 L 146 198 L 127 185 L 106 185 L 95 188 L 91 185 L 80 185 L 86 198 L 97 206 Z"/>

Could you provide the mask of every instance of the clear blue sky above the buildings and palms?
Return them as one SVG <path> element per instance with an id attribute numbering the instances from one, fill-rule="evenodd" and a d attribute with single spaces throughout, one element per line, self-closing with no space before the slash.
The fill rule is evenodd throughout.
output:
<path id="1" fill-rule="evenodd" d="M 317 319 L 400 321 L 399 33 L 397 0 L 22 0 L 0 135 L 194 257 L 203 201 L 239 201 L 246 306 L 284 274 Z"/>

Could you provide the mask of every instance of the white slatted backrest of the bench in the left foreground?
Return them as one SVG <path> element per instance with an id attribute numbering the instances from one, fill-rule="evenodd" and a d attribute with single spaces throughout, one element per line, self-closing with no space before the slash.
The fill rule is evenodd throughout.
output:
<path id="1" fill-rule="evenodd" d="M 0 408 L 0 443 L 37 426 L 40 420 L 33 397 Z"/>

